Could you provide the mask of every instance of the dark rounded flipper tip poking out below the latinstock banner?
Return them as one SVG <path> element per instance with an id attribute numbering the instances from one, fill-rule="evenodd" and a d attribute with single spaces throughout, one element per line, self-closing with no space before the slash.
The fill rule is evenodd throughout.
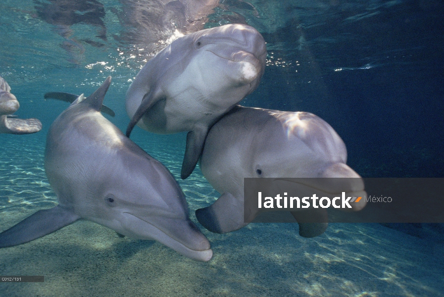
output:
<path id="1" fill-rule="evenodd" d="M 322 235 L 328 227 L 326 209 L 311 209 L 290 212 L 299 224 L 299 235 L 305 238 Z"/>

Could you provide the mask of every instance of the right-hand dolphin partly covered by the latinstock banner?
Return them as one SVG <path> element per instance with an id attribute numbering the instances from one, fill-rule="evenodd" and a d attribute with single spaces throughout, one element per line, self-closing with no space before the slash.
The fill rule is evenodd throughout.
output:
<path id="1" fill-rule="evenodd" d="M 210 129 L 200 159 L 200 169 L 222 195 L 210 206 L 196 210 L 197 220 L 209 231 L 227 233 L 247 225 L 244 221 L 244 178 L 275 178 L 273 183 L 312 193 L 366 195 L 362 178 L 347 166 L 345 144 L 333 128 L 308 112 L 288 112 L 236 106 Z M 346 184 L 300 185 L 286 178 L 353 177 Z M 324 179 L 325 180 L 325 179 Z M 348 181 L 352 180 L 348 184 Z M 312 183 L 312 184 L 310 184 Z M 338 190 L 338 186 L 341 190 Z M 287 189 L 287 188 L 286 188 Z M 279 192 L 277 192 L 279 193 Z M 322 197 L 322 196 L 320 196 Z M 352 203 L 352 211 L 366 201 Z M 247 211 L 248 212 L 248 211 Z M 315 237 L 328 225 L 325 209 L 293 211 L 299 234 Z M 257 213 L 251 214 L 253 217 Z M 321 223 L 304 219 L 316 216 Z"/>

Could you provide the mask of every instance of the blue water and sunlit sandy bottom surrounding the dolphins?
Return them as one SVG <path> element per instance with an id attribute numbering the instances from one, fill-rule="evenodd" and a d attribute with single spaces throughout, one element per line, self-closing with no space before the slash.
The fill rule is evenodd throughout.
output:
<path id="1" fill-rule="evenodd" d="M 64 2 L 0 2 L 0 76 L 20 101 L 16 114 L 43 123 L 36 134 L 0 134 L 0 231 L 57 204 L 43 156 L 67 104 L 43 95 L 89 95 L 111 75 L 104 104 L 116 116 L 105 116 L 125 130 L 125 92 L 171 33 L 147 37 L 149 26 L 131 21 L 130 1 L 89 1 L 93 8 L 54 18 Z M 265 74 L 242 104 L 322 117 L 363 177 L 444 177 L 442 1 L 220 2 L 204 28 L 248 23 L 267 42 Z M 51 4 L 47 14 L 42 3 Z M 196 222 L 194 210 L 219 194 L 199 168 L 180 180 L 185 134 L 135 128 L 131 139 L 178 179 Z M 201 227 L 214 256 L 200 263 L 79 221 L 0 249 L 0 275 L 45 276 L 45 283 L 0 283 L 0 296 L 444 296 L 437 228 L 331 224 L 305 239 L 293 224 L 250 224 L 226 235 Z"/>

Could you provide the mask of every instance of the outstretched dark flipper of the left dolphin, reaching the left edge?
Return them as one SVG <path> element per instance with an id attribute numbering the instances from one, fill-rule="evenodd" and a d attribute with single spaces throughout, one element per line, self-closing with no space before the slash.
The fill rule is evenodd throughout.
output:
<path id="1" fill-rule="evenodd" d="M 13 247 L 65 227 L 80 217 L 59 205 L 39 210 L 20 223 L 0 233 L 0 247 Z"/>

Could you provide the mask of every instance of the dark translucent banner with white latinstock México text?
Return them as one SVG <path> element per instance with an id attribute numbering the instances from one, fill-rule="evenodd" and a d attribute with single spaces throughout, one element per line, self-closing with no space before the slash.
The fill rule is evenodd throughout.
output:
<path id="1" fill-rule="evenodd" d="M 246 223 L 444 223 L 444 178 L 245 178 Z"/>

